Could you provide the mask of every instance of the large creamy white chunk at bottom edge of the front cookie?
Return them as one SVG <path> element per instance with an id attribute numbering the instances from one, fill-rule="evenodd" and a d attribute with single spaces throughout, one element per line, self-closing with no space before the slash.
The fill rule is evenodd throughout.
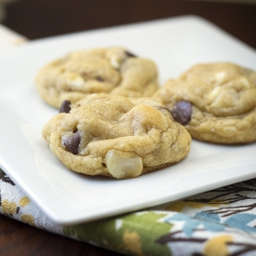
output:
<path id="1" fill-rule="evenodd" d="M 141 175 L 143 163 L 139 155 L 122 158 L 115 153 L 115 150 L 110 150 L 105 155 L 105 159 L 106 166 L 115 179 L 135 178 Z"/>

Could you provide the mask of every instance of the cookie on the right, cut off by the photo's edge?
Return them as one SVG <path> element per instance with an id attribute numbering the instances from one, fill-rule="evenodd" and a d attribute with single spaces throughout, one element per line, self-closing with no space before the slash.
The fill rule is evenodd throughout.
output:
<path id="1" fill-rule="evenodd" d="M 256 140 L 256 73 L 248 68 L 226 62 L 197 64 L 168 80 L 154 98 L 197 140 Z"/>

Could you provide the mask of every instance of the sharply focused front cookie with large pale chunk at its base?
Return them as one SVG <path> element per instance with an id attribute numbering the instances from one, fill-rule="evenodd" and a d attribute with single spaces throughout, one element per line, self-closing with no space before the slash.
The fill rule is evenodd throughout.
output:
<path id="1" fill-rule="evenodd" d="M 64 101 L 43 137 L 67 168 L 115 179 L 175 164 L 191 143 L 187 130 L 158 101 L 103 94 Z"/>

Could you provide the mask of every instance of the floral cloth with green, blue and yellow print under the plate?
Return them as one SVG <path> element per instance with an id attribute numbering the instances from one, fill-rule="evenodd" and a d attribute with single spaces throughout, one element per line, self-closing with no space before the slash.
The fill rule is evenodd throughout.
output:
<path id="1" fill-rule="evenodd" d="M 256 255 L 256 179 L 96 222 L 52 222 L 0 169 L 0 212 L 124 255 Z"/>

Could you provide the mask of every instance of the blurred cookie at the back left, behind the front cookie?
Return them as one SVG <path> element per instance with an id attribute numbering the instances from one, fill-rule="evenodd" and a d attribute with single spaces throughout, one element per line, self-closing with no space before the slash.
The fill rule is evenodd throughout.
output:
<path id="1" fill-rule="evenodd" d="M 74 51 L 52 61 L 34 83 L 43 100 L 59 108 L 62 101 L 79 101 L 90 93 L 151 96 L 158 88 L 157 75 L 153 61 L 109 47 Z"/>

